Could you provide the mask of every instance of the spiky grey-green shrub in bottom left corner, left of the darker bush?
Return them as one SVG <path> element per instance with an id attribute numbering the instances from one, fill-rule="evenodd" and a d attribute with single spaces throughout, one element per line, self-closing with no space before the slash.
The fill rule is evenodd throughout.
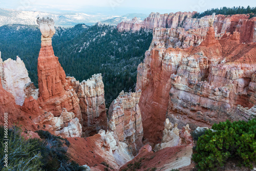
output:
<path id="1" fill-rule="evenodd" d="M 36 151 L 37 141 L 25 140 L 18 127 L 8 130 L 8 152 L 5 153 L 5 128 L 0 126 L 0 170 L 41 170 L 40 152 Z M 4 156 L 8 154 L 8 167 L 5 167 Z"/>

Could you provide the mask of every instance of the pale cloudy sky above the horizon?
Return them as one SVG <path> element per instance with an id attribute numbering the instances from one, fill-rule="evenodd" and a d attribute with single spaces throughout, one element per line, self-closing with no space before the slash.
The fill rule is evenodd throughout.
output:
<path id="1" fill-rule="evenodd" d="M 256 0 L 0 0 L 0 8 L 55 13 L 83 12 L 124 15 L 127 13 L 203 12 L 211 8 L 256 7 Z"/>

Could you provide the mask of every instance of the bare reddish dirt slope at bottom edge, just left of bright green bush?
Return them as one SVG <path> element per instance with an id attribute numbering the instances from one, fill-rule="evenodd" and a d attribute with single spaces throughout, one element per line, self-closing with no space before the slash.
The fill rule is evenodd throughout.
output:
<path id="1" fill-rule="evenodd" d="M 192 147 L 185 145 L 166 147 L 154 153 L 152 147 L 147 144 L 140 149 L 139 154 L 132 161 L 123 165 L 120 170 L 183 170 L 183 167 L 190 164 Z"/>

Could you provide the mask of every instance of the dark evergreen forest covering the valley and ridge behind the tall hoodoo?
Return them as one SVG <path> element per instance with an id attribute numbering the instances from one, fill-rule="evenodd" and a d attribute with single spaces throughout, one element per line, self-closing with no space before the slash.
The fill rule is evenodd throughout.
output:
<path id="1" fill-rule="evenodd" d="M 29 77 L 37 87 L 37 58 L 41 33 L 36 26 L 0 27 L 0 51 L 3 60 L 18 55 L 26 65 Z M 102 73 L 106 107 L 124 90 L 134 91 L 137 67 L 150 47 L 152 31 L 119 33 L 114 26 L 56 28 L 52 38 L 55 56 L 67 76 L 87 80 Z"/>

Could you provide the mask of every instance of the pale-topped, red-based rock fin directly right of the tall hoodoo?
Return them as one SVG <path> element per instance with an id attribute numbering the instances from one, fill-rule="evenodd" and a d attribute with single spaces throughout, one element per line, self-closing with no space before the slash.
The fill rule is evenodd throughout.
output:
<path id="1" fill-rule="evenodd" d="M 79 105 L 83 119 L 83 136 L 92 136 L 100 130 L 106 130 L 104 84 L 101 74 L 95 74 L 87 81 L 79 83 L 77 89 Z"/>

